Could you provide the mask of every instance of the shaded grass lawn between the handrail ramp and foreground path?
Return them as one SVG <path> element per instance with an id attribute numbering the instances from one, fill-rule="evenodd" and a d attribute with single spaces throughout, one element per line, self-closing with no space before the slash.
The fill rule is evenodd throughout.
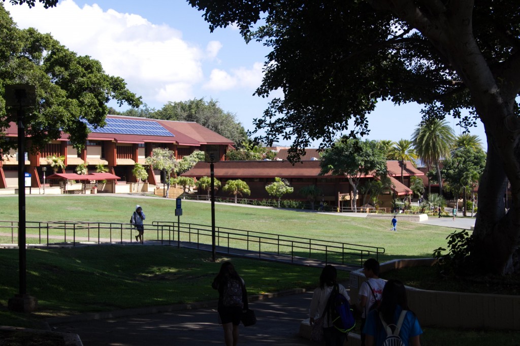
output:
<path id="1" fill-rule="evenodd" d="M 28 293 L 38 299 L 35 314 L 6 310 L 18 293 L 18 250 L 0 250 L 0 325 L 95 311 L 214 300 L 211 288 L 220 262 L 211 252 L 172 246 L 90 246 L 28 249 Z M 314 288 L 320 269 L 233 258 L 248 294 Z M 348 280 L 344 273 L 342 280 Z M 138 298 L 137 298 L 138 297 Z M 18 322 L 17 322 L 18 321 Z M 13 324 L 13 322 L 15 322 Z"/>

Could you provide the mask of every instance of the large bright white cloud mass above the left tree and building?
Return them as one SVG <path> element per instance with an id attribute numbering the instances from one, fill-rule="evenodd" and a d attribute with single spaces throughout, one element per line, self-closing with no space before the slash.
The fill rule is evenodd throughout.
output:
<path id="1" fill-rule="evenodd" d="M 241 62 L 231 60 L 222 67 L 220 41 L 188 42 L 172 26 L 153 24 L 136 14 L 96 4 L 79 7 L 73 0 L 60 0 L 52 9 L 7 2 L 4 6 L 19 28 L 32 26 L 50 33 L 77 54 L 99 60 L 108 74 L 124 78 L 128 88 L 151 107 L 203 97 L 198 88 L 205 92 L 254 90 L 262 81 L 262 63 L 233 68 L 233 63 Z M 209 75 L 204 69 L 211 71 L 206 72 Z"/>

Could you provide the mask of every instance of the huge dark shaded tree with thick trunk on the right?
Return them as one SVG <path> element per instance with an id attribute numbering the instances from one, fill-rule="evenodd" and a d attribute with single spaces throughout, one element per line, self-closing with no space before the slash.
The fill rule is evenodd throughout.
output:
<path id="1" fill-rule="evenodd" d="M 283 98 L 255 120 L 266 143 L 282 137 L 304 148 L 337 131 L 365 135 L 378 100 L 418 102 L 425 117 L 452 115 L 468 127 L 480 118 L 488 153 L 472 257 L 486 272 L 520 271 L 520 2 L 188 2 L 211 30 L 236 23 L 272 49 L 256 94 L 280 89 Z M 508 179 L 514 202 L 505 214 Z"/>

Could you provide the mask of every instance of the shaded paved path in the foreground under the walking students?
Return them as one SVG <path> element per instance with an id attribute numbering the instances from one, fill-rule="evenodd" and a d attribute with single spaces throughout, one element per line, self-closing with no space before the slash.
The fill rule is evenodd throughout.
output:
<path id="1" fill-rule="evenodd" d="M 251 302 L 257 323 L 240 326 L 241 345 L 316 345 L 298 336 L 307 318 L 311 292 Z M 213 307 L 132 315 L 105 320 L 50 323 L 53 331 L 78 334 L 84 346 L 201 346 L 223 345 L 222 327 Z"/>

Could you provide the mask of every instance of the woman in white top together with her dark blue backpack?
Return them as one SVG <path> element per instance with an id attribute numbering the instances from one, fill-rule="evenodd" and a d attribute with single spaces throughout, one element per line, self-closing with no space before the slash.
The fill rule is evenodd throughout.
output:
<path id="1" fill-rule="evenodd" d="M 309 323 L 314 329 L 322 325 L 326 346 L 343 346 L 347 332 L 354 328 L 349 300 L 345 287 L 337 283 L 336 268 L 326 265 L 321 271 L 320 285 L 314 290 L 309 309 Z"/>

